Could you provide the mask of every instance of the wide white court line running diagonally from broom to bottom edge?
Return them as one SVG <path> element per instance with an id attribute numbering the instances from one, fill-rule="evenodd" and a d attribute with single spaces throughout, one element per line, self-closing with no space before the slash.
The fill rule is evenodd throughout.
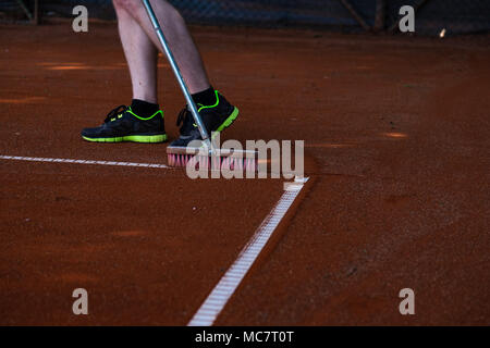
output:
<path id="1" fill-rule="evenodd" d="M 307 177 L 296 179 L 294 184 L 285 187 L 279 202 L 257 228 L 236 261 L 224 273 L 187 326 L 211 326 L 215 323 L 307 181 Z"/>

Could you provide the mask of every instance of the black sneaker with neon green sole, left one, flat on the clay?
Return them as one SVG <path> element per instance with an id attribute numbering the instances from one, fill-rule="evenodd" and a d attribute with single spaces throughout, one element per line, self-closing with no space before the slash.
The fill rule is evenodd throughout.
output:
<path id="1" fill-rule="evenodd" d="M 162 142 L 167 140 L 163 111 L 140 117 L 131 107 L 120 105 L 109 112 L 101 126 L 83 129 L 82 138 L 99 142 Z"/>

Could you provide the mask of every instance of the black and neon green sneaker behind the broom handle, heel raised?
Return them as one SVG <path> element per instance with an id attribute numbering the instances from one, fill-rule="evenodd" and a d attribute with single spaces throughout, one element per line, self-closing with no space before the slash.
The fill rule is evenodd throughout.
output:
<path id="1" fill-rule="evenodd" d="M 209 136 L 211 136 L 211 132 L 221 132 L 229 127 L 238 116 L 238 109 L 229 103 L 218 90 L 215 92 L 216 104 L 208 107 L 197 104 L 197 111 L 199 112 Z M 171 147 L 186 147 L 187 144 L 193 140 L 203 139 L 199 129 L 194 122 L 193 114 L 187 107 L 179 114 L 176 125 L 180 126 L 181 124 L 181 136 L 170 144 Z"/>

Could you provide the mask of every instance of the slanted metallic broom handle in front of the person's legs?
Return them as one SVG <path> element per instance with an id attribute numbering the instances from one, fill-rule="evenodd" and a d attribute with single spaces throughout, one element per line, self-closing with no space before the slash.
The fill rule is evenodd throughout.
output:
<path id="1" fill-rule="evenodd" d="M 167 59 L 169 60 L 170 66 L 172 66 L 172 71 L 175 75 L 175 78 L 179 82 L 179 85 L 181 86 L 182 91 L 184 92 L 185 100 L 187 101 L 187 105 L 191 108 L 191 113 L 194 116 L 194 121 L 197 124 L 197 128 L 199 129 L 200 136 L 203 140 L 205 140 L 208 144 L 208 149 L 211 149 L 210 147 L 210 140 L 208 132 L 206 130 L 206 127 L 203 124 L 203 120 L 199 116 L 199 112 L 197 111 L 196 103 L 194 102 L 193 98 L 191 97 L 191 92 L 188 91 L 187 85 L 184 82 L 184 78 L 182 77 L 181 70 L 179 69 L 179 65 L 175 62 L 175 58 L 173 57 L 172 51 L 170 50 L 169 44 L 167 41 L 166 36 L 163 35 L 163 32 L 160 27 L 160 24 L 158 23 L 157 16 L 155 15 L 154 9 L 151 8 L 151 4 L 149 3 L 149 0 L 143 0 L 143 4 L 145 5 L 146 12 L 148 13 L 148 16 L 151 21 L 151 24 L 155 28 L 155 32 L 157 33 L 157 37 L 160 40 L 161 46 L 163 47 L 163 51 L 167 54 Z"/>

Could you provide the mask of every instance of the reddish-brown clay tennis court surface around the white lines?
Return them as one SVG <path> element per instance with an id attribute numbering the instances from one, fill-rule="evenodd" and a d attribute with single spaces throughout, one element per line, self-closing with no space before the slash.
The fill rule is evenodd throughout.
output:
<path id="1" fill-rule="evenodd" d="M 304 139 L 316 162 L 217 325 L 490 323 L 488 37 L 192 30 L 241 109 L 222 138 Z M 0 156 L 167 163 L 167 145 L 79 137 L 131 102 L 115 24 L 1 26 L 0 66 Z M 174 139 L 163 58 L 159 76 Z M 283 183 L 0 160 L 0 324 L 186 325 Z"/>

